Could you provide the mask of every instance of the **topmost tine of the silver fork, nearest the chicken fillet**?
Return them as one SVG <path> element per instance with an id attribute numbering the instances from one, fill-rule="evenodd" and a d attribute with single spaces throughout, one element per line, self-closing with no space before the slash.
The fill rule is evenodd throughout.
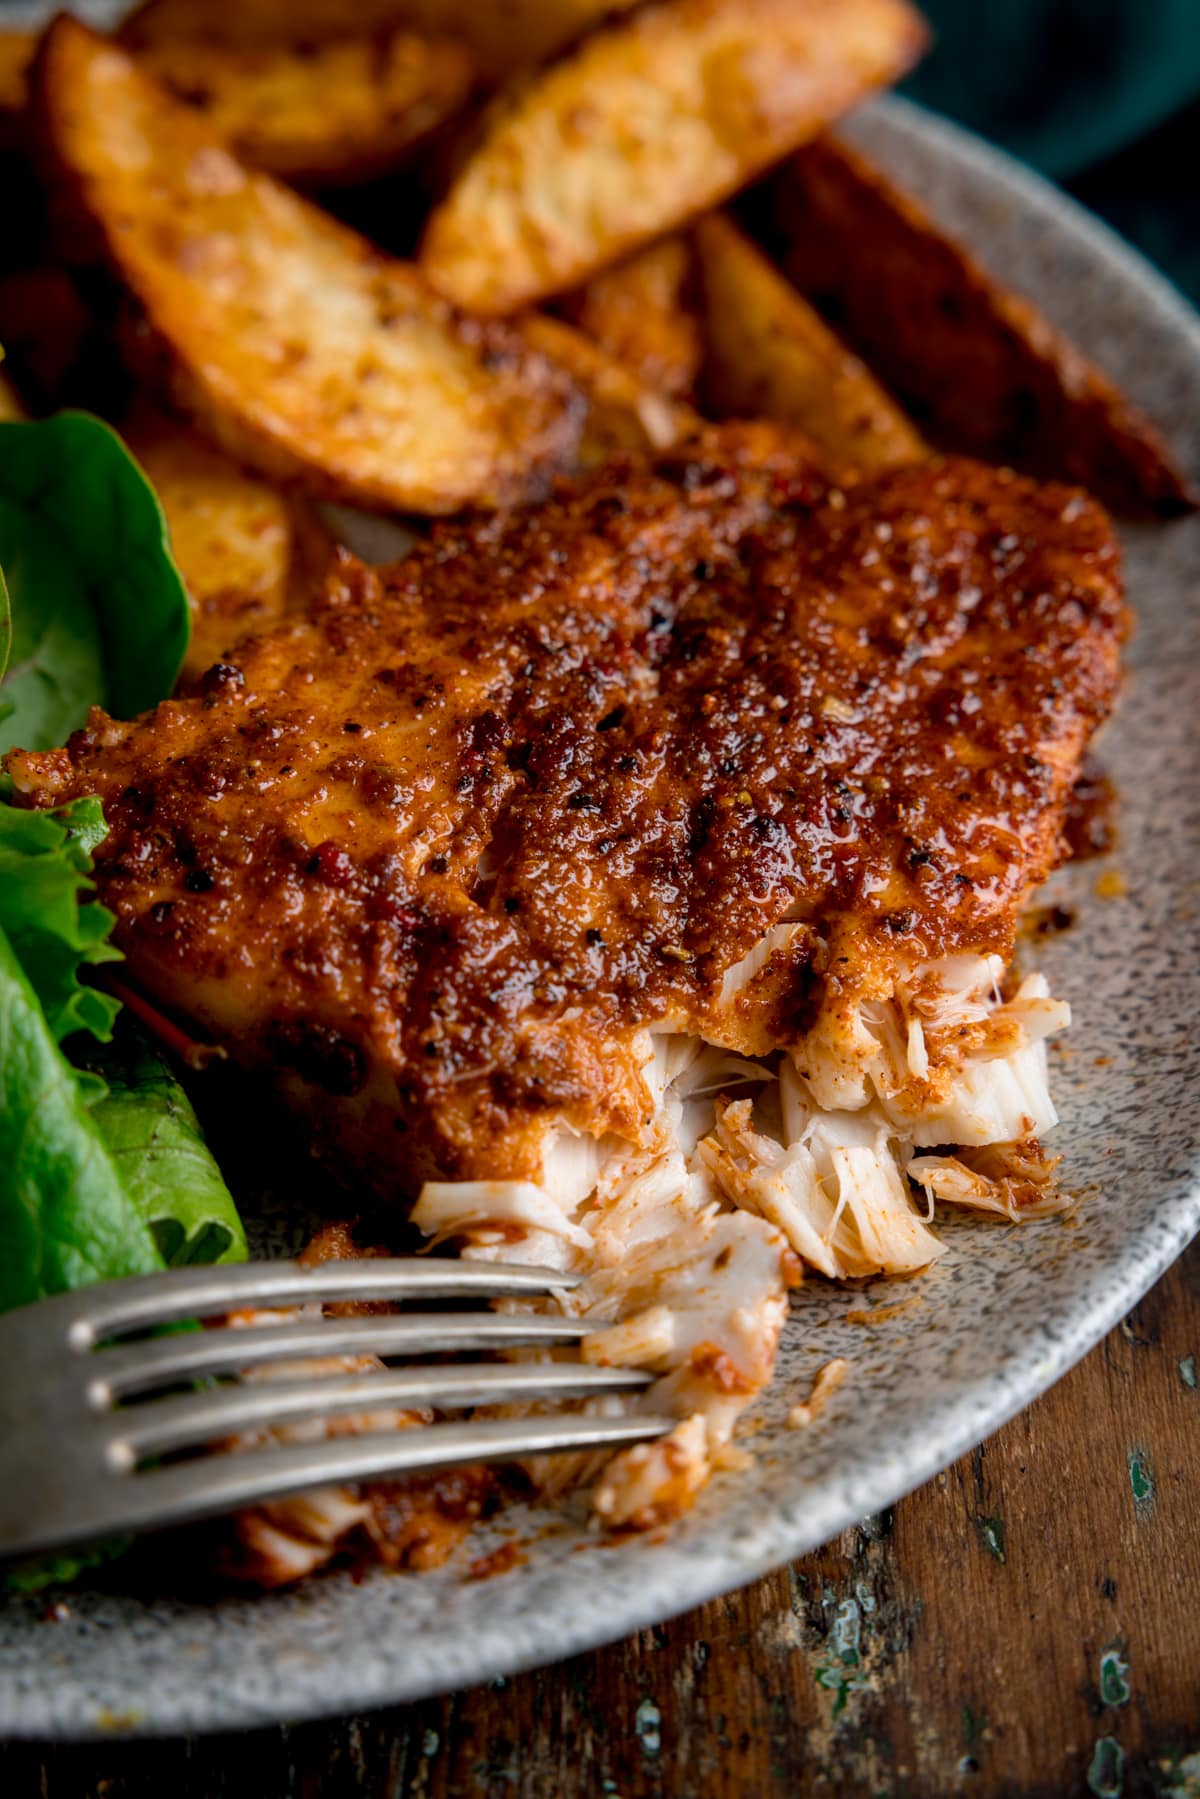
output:
<path id="1" fill-rule="evenodd" d="M 331 1304 L 349 1299 L 502 1299 L 572 1288 L 579 1279 L 581 1275 L 560 1268 L 434 1256 L 365 1256 L 358 1261 L 324 1261 L 311 1268 L 297 1261 L 171 1268 L 167 1274 L 106 1281 L 74 1295 L 77 1317 L 70 1340 L 77 1349 L 88 1349 L 126 1331 L 175 1324 L 180 1319 L 209 1319 L 248 1306 Z"/>

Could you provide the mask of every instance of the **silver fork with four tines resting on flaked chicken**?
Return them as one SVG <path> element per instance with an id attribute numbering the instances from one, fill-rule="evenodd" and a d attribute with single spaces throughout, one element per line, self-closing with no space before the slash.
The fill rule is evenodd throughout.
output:
<path id="1" fill-rule="evenodd" d="M 556 1450 L 617 1450 L 664 1436 L 666 1418 L 468 1419 L 315 1443 L 194 1454 L 239 1432 L 378 1407 L 461 1409 L 637 1392 L 653 1376 L 581 1362 L 401 1365 L 264 1382 L 189 1382 L 313 1356 L 419 1356 L 581 1342 L 590 1326 L 543 1313 L 399 1311 L 290 1319 L 142 1337 L 137 1331 L 270 1310 L 365 1299 L 533 1297 L 578 1275 L 435 1259 L 293 1261 L 178 1268 L 108 1281 L 0 1317 L 0 1556 L 149 1531 L 282 1499 L 324 1482 L 407 1475 Z M 126 1338 L 126 1340 L 122 1340 Z M 157 1394 L 157 1396 L 155 1396 Z"/>

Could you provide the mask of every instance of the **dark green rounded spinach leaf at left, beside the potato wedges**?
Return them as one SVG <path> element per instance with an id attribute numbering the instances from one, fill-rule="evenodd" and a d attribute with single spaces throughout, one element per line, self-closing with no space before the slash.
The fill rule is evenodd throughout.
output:
<path id="1" fill-rule="evenodd" d="M 90 705 L 131 718 L 171 691 L 187 594 L 155 491 L 101 419 L 0 425 L 0 565 L 13 601 L 0 748 L 50 748 Z"/>

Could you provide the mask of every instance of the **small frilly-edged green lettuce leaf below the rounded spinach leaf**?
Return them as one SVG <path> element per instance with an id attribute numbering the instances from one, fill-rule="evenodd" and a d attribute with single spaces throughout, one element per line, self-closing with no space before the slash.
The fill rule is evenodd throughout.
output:
<path id="1" fill-rule="evenodd" d="M 0 928 L 58 1042 L 72 1031 L 108 1042 L 121 1009 L 108 993 L 79 982 L 81 968 L 121 961 L 108 943 L 113 914 L 79 898 L 92 887 L 92 849 L 103 837 L 97 799 L 65 811 L 0 806 Z"/>

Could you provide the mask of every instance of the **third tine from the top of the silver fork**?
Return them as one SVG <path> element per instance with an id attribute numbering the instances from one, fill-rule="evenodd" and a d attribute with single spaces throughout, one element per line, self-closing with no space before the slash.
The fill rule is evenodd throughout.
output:
<path id="1" fill-rule="evenodd" d="M 482 1362 L 457 1367 L 398 1367 L 371 1374 L 266 1380 L 212 1392 L 151 1400 L 113 1416 L 108 1459 L 117 1466 L 239 1430 L 329 1418 L 336 1412 L 401 1410 L 423 1405 L 498 1405 L 513 1400 L 567 1400 L 603 1392 L 637 1392 L 653 1374 L 630 1367 L 588 1367 L 581 1362 Z"/>

